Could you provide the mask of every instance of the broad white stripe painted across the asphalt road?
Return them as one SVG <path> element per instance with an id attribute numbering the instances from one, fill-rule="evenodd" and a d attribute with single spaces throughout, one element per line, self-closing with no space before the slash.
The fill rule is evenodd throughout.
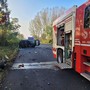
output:
<path id="1" fill-rule="evenodd" d="M 40 62 L 40 63 L 15 63 L 11 67 L 12 70 L 14 69 L 54 69 L 56 70 L 55 65 L 57 64 L 56 61 L 53 62 Z"/>

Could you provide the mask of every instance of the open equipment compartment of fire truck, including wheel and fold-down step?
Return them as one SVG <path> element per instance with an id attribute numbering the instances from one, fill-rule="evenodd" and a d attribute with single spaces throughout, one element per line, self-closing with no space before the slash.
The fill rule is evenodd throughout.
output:
<path id="1" fill-rule="evenodd" d="M 72 54 L 72 32 L 64 32 L 64 25 L 57 30 L 57 45 L 62 48 L 57 50 L 57 61 L 61 69 L 71 68 L 71 54 Z M 60 60 L 58 59 L 60 57 Z"/>

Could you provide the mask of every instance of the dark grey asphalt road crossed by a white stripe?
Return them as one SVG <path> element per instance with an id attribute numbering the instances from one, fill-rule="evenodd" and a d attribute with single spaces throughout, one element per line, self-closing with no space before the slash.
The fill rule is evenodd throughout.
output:
<path id="1" fill-rule="evenodd" d="M 54 63 L 50 45 L 20 49 L 0 90 L 90 90 L 88 80 Z"/>

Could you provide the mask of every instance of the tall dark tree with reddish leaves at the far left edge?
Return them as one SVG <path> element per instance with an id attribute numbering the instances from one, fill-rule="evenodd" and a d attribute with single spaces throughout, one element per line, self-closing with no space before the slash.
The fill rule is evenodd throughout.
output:
<path id="1" fill-rule="evenodd" d="M 9 11 L 7 0 L 0 0 L 0 44 L 5 45 L 6 34 L 7 34 L 7 24 L 9 23 Z"/>

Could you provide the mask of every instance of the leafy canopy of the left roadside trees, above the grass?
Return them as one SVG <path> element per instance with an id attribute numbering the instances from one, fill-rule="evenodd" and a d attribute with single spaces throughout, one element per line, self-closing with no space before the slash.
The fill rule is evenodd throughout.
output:
<path id="1" fill-rule="evenodd" d="M 7 46 L 18 43 L 23 37 L 18 30 L 21 27 L 19 25 L 18 18 L 11 18 L 10 11 L 8 9 L 7 0 L 0 0 L 0 45 Z"/>

